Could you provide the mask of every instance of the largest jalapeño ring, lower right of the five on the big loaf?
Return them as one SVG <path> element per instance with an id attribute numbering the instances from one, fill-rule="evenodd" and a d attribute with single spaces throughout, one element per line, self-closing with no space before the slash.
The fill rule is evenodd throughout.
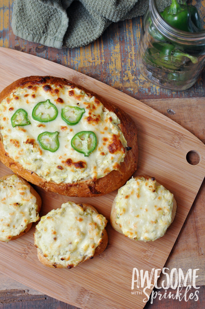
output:
<path id="1" fill-rule="evenodd" d="M 89 157 L 97 145 L 97 138 L 92 131 L 81 131 L 75 134 L 71 140 L 71 146 L 78 152 L 84 154 L 85 157 Z"/>

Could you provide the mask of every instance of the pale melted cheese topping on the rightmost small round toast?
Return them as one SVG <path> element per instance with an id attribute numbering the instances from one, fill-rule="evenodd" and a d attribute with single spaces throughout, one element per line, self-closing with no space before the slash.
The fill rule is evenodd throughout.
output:
<path id="1" fill-rule="evenodd" d="M 132 177 L 118 190 L 115 202 L 115 222 L 129 238 L 154 241 L 171 224 L 173 194 L 157 186 L 155 178 Z"/>

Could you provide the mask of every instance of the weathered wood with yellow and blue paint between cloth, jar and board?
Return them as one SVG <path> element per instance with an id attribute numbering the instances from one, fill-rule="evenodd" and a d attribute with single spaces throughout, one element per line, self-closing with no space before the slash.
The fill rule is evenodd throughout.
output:
<path id="1" fill-rule="evenodd" d="M 96 78 L 136 99 L 186 98 L 205 95 L 205 73 L 186 91 L 170 91 L 146 81 L 137 68 L 142 17 L 112 23 L 93 43 L 54 49 L 16 37 L 11 29 L 14 0 L 0 0 L 0 46 L 42 57 Z"/>

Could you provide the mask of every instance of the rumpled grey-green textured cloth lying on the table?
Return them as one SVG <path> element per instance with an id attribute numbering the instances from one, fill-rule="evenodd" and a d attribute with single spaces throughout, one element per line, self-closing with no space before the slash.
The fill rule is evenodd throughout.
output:
<path id="1" fill-rule="evenodd" d="M 15 0 L 16 36 L 46 46 L 79 47 L 112 23 L 143 15 L 149 0 Z"/>

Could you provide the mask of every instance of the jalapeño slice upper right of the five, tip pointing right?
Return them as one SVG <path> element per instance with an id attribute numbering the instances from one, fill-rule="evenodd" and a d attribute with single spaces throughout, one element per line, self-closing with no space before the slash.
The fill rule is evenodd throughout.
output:
<path id="1" fill-rule="evenodd" d="M 66 105 L 62 108 L 61 117 L 68 125 L 76 125 L 82 118 L 85 109 Z"/>

